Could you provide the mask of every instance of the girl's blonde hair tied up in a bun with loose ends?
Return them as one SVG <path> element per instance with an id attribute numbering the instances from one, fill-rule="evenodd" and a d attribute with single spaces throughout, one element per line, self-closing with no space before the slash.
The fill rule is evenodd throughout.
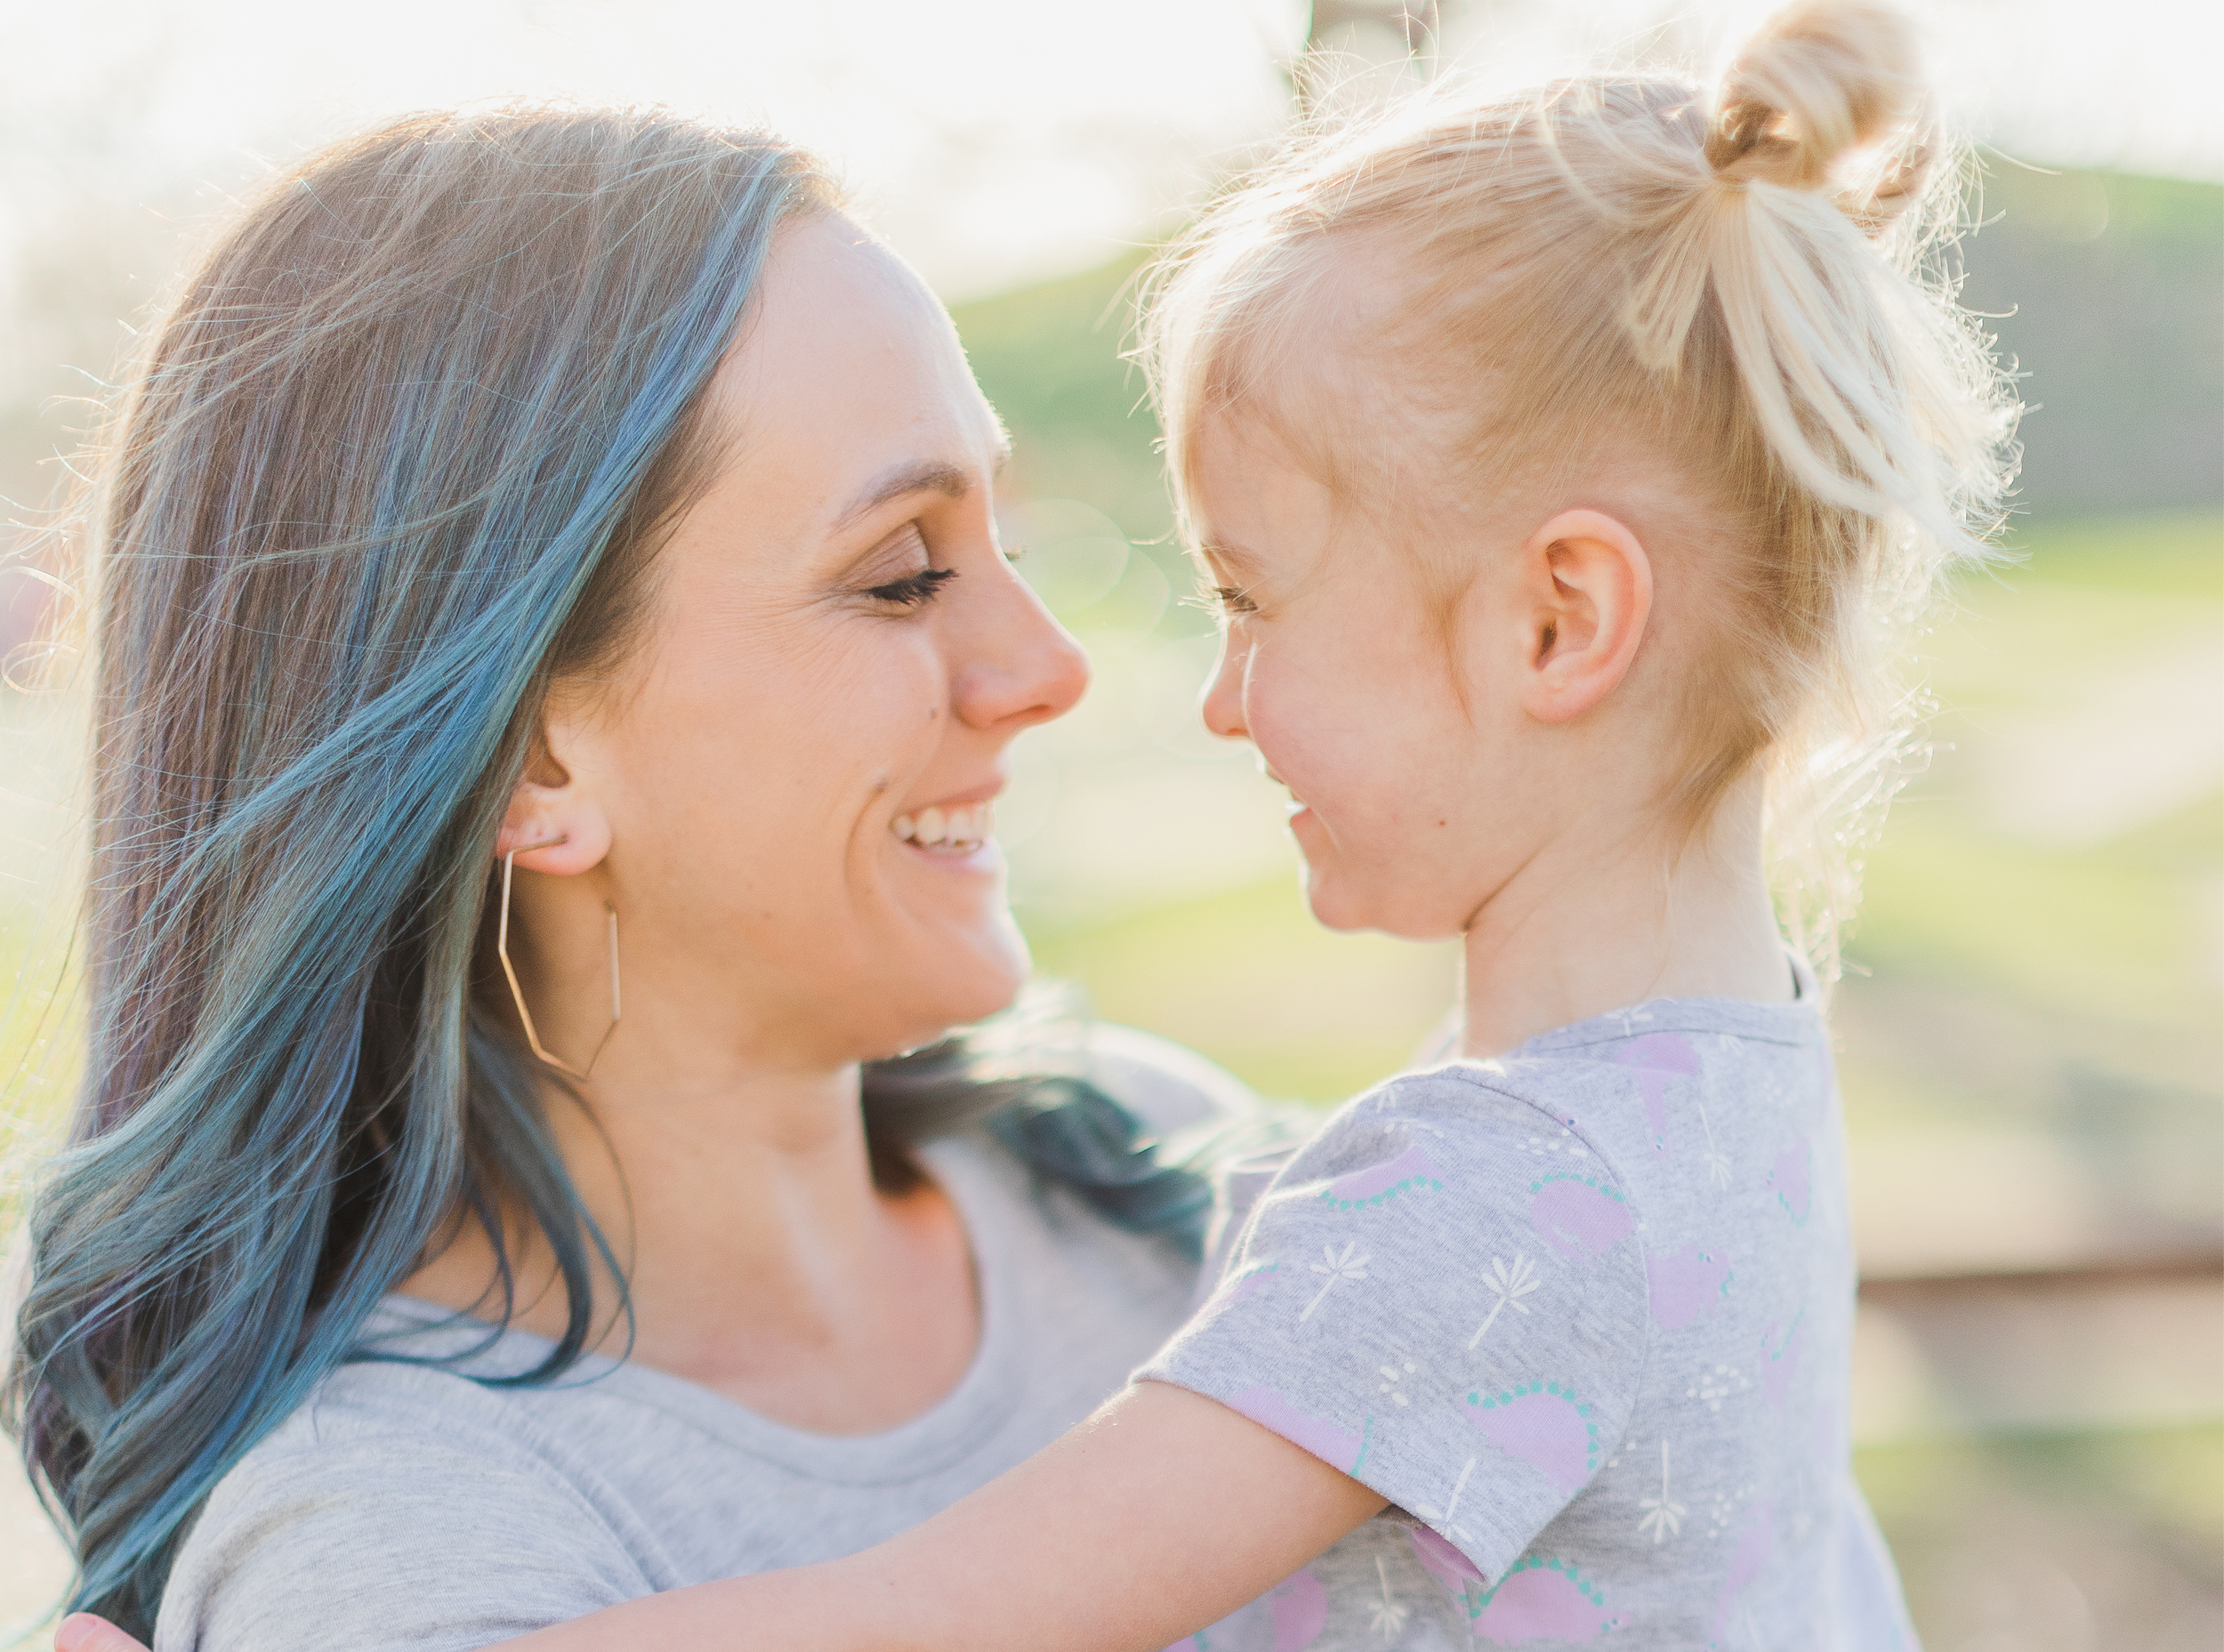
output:
<path id="1" fill-rule="evenodd" d="M 1926 125 L 1910 29 L 1870 0 L 1784 9 L 1712 91 L 1432 91 L 1212 207 L 1143 331 L 1183 491 L 1225 416 L 1346 496 L 1664 465 L 1706 594 L 1670 805 L 1697 827 L 1768 763 L 1786 918 L 1826 978 L 1844 816 L 1906 743 L 1893 643 L 1984 554 L 2013 474 L 2013 407 L 1937 258 L 1959 167 Z"/>

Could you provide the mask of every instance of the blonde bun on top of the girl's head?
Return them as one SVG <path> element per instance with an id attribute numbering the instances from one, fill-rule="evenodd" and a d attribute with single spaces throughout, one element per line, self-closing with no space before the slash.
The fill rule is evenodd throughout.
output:
<path id="1" fill-rule="evenodd" d="M 1906 13 L 1877 0 L 1804 0 L 1730 62 L 1706 160 L 1717 178 L 1821 189 L 1841 156 L 1886 136 L 1919 98 Z M 1895 196 L 1908 193 L 1904 171 Z M 1890 216 L 1895 205 L 1879 196 L 1873 209 Z"/>

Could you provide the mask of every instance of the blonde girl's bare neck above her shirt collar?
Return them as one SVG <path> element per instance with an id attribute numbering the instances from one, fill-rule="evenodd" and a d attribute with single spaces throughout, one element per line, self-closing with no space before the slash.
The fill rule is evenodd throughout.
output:
<path id="1" fill-rule="evenodd" d="M 1659 829 L 1535 856 L 1468 927 L 1459 1054 L 1501 1056 L 1646 998 L 1788 1001 L 1759 825 L 1753 780 L 1688 845 Z"/>

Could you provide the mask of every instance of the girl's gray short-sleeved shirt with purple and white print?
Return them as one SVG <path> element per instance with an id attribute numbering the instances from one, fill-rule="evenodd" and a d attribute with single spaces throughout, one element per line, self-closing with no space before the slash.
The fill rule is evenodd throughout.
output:
<path id="1" fill-rule="evenodd" d="M 1915 1645 L 1848 1470 L 1844 1152 L 1795 974 L 1392 1078 L 1230 1212 L 1141 1376 L 1392 1507 L 1214 1652 Z"/>

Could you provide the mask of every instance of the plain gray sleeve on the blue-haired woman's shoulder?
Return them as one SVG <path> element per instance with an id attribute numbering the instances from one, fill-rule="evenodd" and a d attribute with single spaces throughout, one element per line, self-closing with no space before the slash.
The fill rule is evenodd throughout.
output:
<path id="1" fill-rule="evenodd" d="M 656 1590 L 529 1452 L 294 1419 L 211 1494 L 156 1652 L 465 1652 Z"/>

